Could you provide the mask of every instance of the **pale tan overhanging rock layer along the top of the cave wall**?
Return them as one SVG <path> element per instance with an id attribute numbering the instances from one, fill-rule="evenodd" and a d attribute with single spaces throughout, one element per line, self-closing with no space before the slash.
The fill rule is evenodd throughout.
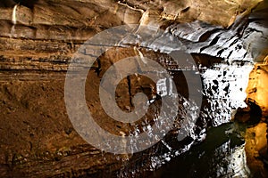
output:
<path id="1" fill-rule="evenodd" d="M 16 1 L 18 2 L 18 1 Z M 261 0 L 236 1 L 21 1 L 0 2 L 1 36 L 31 39 L 87 40 L 96 32 L 121 24 L 165 26 L 202 20 L 229 27 Z M 26 6 L 25 6 L 26 5 Z M 18 25 L 13 28 L 13 24 Z"/>

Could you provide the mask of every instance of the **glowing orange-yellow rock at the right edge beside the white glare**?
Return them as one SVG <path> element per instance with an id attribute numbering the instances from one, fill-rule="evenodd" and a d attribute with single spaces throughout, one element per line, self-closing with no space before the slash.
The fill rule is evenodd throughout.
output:
<path id="1" fill-rule="evenodd" d="M 266 57 L 267 58 L 267 57 Z M 247 102 L 249 103 L 250 116 L 248 122 L 255 125 L 247 128 L 246 147 L 247 163 L 251 172 L 256 177 L 267 177 L 265 166 L 267 160 L 267 116 L 268 116 L 268 65 L 264 62 L 255 64 L 249 75 L 247 85 Z M 244 117 L 245 118 L 245 117 Z M 258 123 L 260 122 L 260 123 Z M 258 124 L 257 124 L 258 123 Z"/>

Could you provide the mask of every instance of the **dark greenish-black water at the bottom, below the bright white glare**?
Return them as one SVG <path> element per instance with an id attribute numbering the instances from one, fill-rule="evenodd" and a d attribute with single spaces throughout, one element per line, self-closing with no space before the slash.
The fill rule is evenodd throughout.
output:
<path id="1" fill-rule="evenodd" d="M 236 123 L 212 127 L 205 141 L 156 170 L 153 177 L 249 177 L 245 141 Z"/>

